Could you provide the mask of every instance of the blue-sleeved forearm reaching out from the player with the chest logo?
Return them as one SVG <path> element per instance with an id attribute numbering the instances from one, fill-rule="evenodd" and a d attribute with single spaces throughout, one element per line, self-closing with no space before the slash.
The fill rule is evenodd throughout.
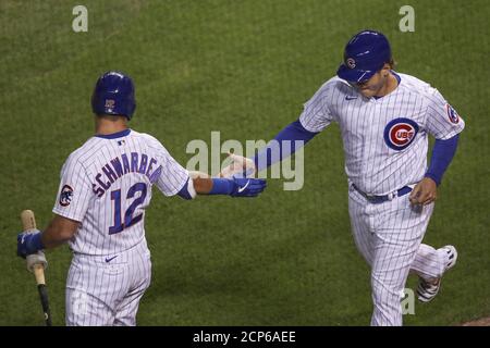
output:
<path id="1" fill-rule="evenodd" d="M 253 160 L 257 172 L 292 156 L 317 134 L 318 133 L 307 130 L 299 120 L 289 124 L 267 145 L 265 149 L 254 157 Z"/>

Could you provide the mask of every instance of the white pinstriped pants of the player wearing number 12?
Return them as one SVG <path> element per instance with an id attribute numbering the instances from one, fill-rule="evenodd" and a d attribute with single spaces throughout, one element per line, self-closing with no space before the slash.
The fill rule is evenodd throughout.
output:
<path id="1" fill-rule="evenodd" d="M 139 300 L 150 279 L 145 239 L 118 254 L 74 254 L 66 282 L 66 325 L 136 325 Z"/>

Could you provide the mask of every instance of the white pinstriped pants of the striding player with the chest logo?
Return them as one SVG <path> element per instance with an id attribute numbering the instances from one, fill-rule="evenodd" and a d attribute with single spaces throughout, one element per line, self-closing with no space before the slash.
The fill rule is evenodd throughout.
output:
<path id="1" fill-rule="evenodd" d="M 371 203 L 351 185 L 348 211 L 357 249 L 371 266 L 371 325 L 402 325 L 401 297 L 409 271 L 440 277 L 446 257 L 421 244 L 433 203 L 414 207 L 409 194 Z"/>

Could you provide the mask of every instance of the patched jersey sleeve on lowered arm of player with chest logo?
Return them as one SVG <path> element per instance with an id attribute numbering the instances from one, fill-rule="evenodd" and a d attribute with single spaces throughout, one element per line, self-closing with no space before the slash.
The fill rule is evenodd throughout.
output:
<path id="1" fill-rule="evenodd" d="M 436 139 L 446 140 L 462 132 L 465 122 L 437 89 L 431 89 L 428 95 L 426 129 Z"/>

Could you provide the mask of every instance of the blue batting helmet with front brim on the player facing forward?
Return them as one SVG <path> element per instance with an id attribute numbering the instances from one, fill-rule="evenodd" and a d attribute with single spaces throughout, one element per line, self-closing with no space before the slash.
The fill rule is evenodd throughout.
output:
<path id="1" fill-rule="evenodd" d="M 390 60 L 391 48 L 387 37 L 379 32 L 363 30 L 345 46 L 344 62 L 336 75 L 352 83 L 360 83 L 369 79 Z"/>

